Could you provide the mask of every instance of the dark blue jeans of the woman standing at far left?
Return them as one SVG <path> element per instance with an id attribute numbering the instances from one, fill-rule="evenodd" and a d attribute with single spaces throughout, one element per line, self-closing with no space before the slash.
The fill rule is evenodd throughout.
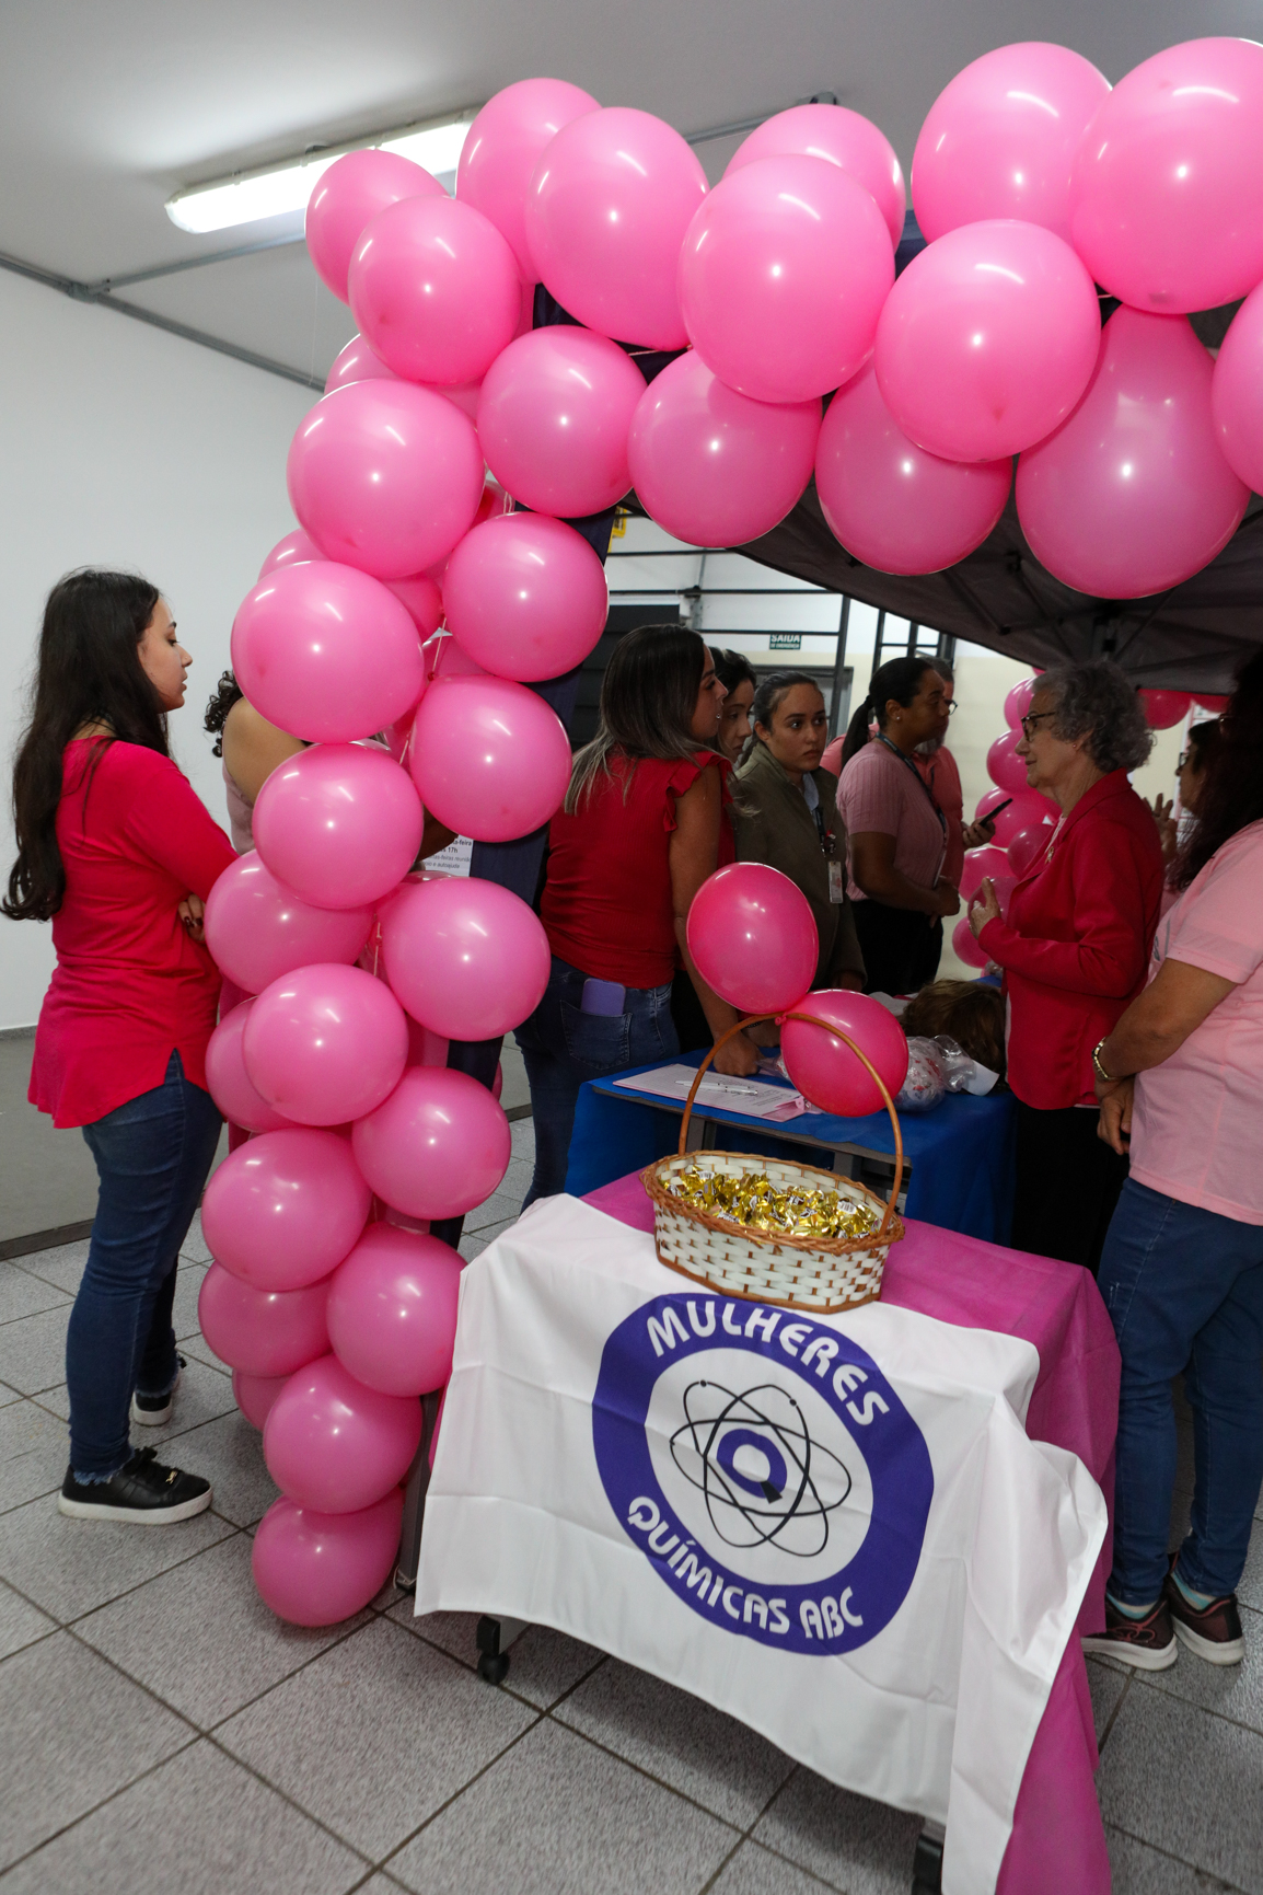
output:
<path id="1" fill-rule="evenodd" d="M 214 1099 L 172 1052 L 161 1086 L 83 1126 L 100 1194 L 66 1330 L 70 1467 L 81 1480 L 108 1480 L 131 1459 L 133 1391 L 176 1385 L 176 1260 L 220 1124 Z"/>

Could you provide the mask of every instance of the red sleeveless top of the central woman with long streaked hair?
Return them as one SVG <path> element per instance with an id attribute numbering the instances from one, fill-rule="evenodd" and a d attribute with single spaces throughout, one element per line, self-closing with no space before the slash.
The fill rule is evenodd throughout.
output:
<path id="1" fill-rule="evenodd" d="M 631 766 L 623 802 L 629 766 L 615 754 L 615 775 L 596 777 L 576 815 L 553 817 L 540 919 L 559 961 L 625 987 L 665 987 L 672 980 L 680 965 L 668 857 L 676 796 L 718 766 L 729 802 L 727 758 L 712 750 L 695 756 L 691 764 L 642 758 Z M 720 868 L 735 860 L 733 826 L 721 819 Z"/>

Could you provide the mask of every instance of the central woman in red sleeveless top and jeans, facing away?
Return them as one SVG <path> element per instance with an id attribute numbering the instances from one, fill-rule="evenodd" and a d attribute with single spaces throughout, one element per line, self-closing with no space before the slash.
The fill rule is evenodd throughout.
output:
<path id="1" fill-rule="evenodd" d="M 678 965 L 716 1038 L 740 1018 L 703 982 L 684 938 L 703 881 L 735 857 L 723 809 L 731 766 L 714 750 L 723 697 L 710 652 L 680 625 L 627 633 L 606 669 L 596 735 L 549 828 L 540 917 L 553 972 L 517 1029 L 536 1128 L 526 1203 L 564 1190 L 585 1080 L 680 1052 Z M 716 1067 L 754 1073 L 757 1059 L 742 1033 Z"/>

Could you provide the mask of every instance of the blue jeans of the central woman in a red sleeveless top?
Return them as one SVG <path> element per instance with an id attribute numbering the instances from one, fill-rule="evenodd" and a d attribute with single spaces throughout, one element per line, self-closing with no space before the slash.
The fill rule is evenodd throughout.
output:
<path id="1" fill-rule="evenodd" d="M 680 1052 L 670 1018 L 670 982 L 665 987 L 629 987 L 623 1002 L 627 1010 L 610 1016 L 579 1010 L 585 980 L 587 974 L 578 966 L 553 955 L 543 999 L 515 1033 L 526 1063 L 536 1126 L 536 1171 L 526 1203 L 566 1188 L 574 1109 L 585 1080 L 670 1059 Z"/>

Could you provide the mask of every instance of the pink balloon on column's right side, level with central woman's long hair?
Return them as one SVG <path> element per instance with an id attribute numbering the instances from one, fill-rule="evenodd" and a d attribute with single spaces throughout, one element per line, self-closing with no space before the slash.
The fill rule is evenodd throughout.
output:
<path id="1" fill-rule="evenodd" d="M 437 678 L 420 699 L 409 769 L 426 809 L 456 836 L 513 841 L 560 809 L 570 739 L 525 684 Z"/>

